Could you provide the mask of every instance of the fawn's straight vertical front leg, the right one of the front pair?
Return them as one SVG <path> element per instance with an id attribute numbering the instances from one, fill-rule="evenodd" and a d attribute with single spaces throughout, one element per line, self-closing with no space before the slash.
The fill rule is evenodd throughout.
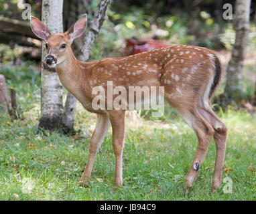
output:
<path id="1" fill-rule="evenodd" d="M 123 139 L 125 136 L 125 111 L 111 110 L 109 111 L 109 119 L 113 130 L 113 149 L 115 153 L 115 182 L 114 186 L 123 185 Z"/>

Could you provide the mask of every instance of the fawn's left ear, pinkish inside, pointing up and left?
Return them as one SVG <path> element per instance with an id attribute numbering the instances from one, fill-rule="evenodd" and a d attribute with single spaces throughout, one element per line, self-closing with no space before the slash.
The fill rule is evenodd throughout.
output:
<path id="1" fill-rule="evenodd" d="M 30 17 L 30 26 L 33 33 L 35 33 L 37 37 L 39 37 L 40 39 L 44 39 L 45 41 L 51 34 L 47 27 L 34 16 Z"/>

